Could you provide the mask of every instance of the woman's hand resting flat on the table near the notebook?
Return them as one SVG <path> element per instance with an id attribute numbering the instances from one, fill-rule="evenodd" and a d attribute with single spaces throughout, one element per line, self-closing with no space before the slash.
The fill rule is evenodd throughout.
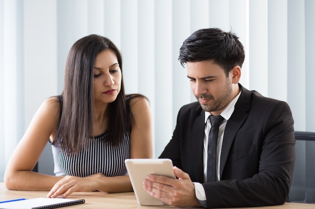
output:
<path id="1" fill-rule="evenodd" d="M 76 176 L 64 176 L 51 188 L 47 197 L 57 197 L 61 196 L 62 198 L 68 196 L 74 191 L 95 191 L 97 188 L 97 178 L 105 177 L 101 173 L 90 175 L 87 177 L 76 177 Z"/>

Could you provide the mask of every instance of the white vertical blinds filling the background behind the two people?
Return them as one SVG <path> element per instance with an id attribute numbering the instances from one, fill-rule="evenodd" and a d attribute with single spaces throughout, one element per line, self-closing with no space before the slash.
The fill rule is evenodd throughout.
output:
<path id="1" fill-rule="evenodd" d="M 61 93 L 70 47 L 89 34 L 118 46 L 126 92 L 150 99 L 154 157 L 195 101 L 177 58 L 200 28 L 235 32 L 246 49 L 241 83 L 287 101 L 295 129 L 315 132 L 314 11 L 312 0 L 0 0 L 0 181 L 36 109 Z M 49 152 L 41 172 L 52 172 Z"/>

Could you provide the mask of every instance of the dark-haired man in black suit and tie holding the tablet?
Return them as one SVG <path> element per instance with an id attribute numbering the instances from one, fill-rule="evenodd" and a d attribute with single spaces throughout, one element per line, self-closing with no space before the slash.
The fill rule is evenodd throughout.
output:
<path id="1" fill-rule="evenodd" d="M 201 29 L 184 41 L 179 60 L 198 102 L 180 109 L 160 156 L 172 159 L 177 179 L 148 175 L 143 187 L 150 195 L 170 205 L 207 208 L 287 200 L 295 161 L 292 114 L 287 103 L 239 84 L 244 58 L 238 37 L 220 29 Z M 215 137 L 209 116 L 223 120 Z"/>

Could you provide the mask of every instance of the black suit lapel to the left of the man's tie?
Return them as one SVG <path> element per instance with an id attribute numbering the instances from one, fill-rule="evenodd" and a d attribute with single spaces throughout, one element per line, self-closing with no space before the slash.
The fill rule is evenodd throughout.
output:
<path id="1" fill-rule="evenodd" d="M 203 182 L 203 136 L 204 136 L 204 111 L 196 117 L 193 126 L 193 163 L 198 182 Z"/>

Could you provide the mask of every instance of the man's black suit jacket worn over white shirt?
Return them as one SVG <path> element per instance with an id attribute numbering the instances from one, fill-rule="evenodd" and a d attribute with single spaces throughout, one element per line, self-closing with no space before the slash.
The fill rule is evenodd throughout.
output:
<path id="1" fill-rule="evenodd" d="M 160 156 L 202 183 L 208 208 L 276 205 L 288 197 L 295 161 L 291 110 L 286 102 L 240 88 L 224 130 L 220 181 L 203 182 L 205 123 L 198 102 L 180 109 L 173 137 Z"/>

